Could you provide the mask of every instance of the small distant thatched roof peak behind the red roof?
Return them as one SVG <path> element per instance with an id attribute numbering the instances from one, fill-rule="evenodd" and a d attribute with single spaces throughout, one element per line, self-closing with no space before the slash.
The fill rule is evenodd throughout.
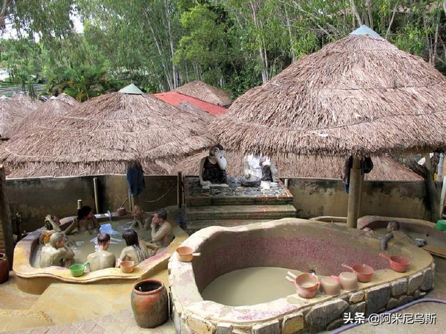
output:
<path id="1" fill-rule="evenodd" d="M 174 91 L 219 106 L 229 106 L 232 102 L 229 93 L 199 80 L 184 84 L 183 86 L 174 89 Z"/>

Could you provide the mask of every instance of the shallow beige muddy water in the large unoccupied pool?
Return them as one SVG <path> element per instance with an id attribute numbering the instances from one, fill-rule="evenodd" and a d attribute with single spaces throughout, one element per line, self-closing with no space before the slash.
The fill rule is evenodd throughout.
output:
<path id="1" fill-rule="evenodd" d="M 213 280 L 201 292 L 201 296 L 204 300 L 229 306 L 274 301 L 295 294 L 294 285 L 285 280 L 287 271 L 290 269 L 277 267 L 252 267 L 231 271 Z"/>

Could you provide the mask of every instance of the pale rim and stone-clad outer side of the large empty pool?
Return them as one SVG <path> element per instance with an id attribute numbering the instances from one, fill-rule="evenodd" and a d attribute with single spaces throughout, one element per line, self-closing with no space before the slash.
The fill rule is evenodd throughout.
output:
<path id="1" fill-rule="evenodd" d="M 235 228 L 214 226 L 192 234 L 183 245 L 202 251 L 203 244 L 206 241 L 217 242 L 219 234 L 231 237 L 234 233 L 261 231 L 268 237 L 275 229 L 290 228 L 296 231 L 316 228 L 320 229 L 321 235 L 332 231 L 340 238 L 344 234 L 344 237 L 360 240 L 379 253 L 376 236 L 331 223 L 314 223 L 298 218 Z M 342 290 L 339 296 L 320 294 L 314 299 L 301 299 L 295 294 L 269 303 L 238 307 L 203 301 L 194 277 L 193 262 L 180 262 L 175 253 L 169 260 L 168 269 L 176 333 L 215 333 L 217 330 L 217 333 L 232 333 L 234 329 L 243 333 L 295 333 L 303 328 L 317 332 L 341 326 L 344 312 L 381 312 L 420 298 L 433 288 L 435 264 L 429 253 L 394 241 L 390 242 L 388 252 L 410 257 L 410 269 L 406 273 L 396 273 L 391 269 L 376 270 L 370 283 L 360 283 L 360 288 L 354 292 Z M 199 262 L 195 267 L 199 267 Z"/>

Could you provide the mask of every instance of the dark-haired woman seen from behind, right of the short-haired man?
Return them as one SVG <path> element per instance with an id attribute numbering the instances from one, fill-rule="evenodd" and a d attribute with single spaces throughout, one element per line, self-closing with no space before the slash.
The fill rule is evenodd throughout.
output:
<path id="1" fill-rule="evenodd" d="M 121 261 L 133 261 L 134 265 L 138 265 L 148 257 L 155 255 L 158 247 L 153 244 L 148 244 L 146 241 L 139 240 L 138 234 L 132 228 L 123 232 L 123 239 L 125 240 L 125 247 L 118 260 L 116 260 L 116 267 L 119 267 Z M 149 250 L 149 248 L 151 250 Z"/>

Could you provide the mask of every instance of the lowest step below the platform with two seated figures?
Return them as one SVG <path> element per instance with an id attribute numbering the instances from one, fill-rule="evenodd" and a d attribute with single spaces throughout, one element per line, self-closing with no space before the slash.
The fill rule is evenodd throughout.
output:
<path id="1" fill-rule="evenodd" d="M 295 217 L 293 205 L 214 205 L 186 207 L 186 221 L 233 220 L 233 219 L 279 219 Z"/>

